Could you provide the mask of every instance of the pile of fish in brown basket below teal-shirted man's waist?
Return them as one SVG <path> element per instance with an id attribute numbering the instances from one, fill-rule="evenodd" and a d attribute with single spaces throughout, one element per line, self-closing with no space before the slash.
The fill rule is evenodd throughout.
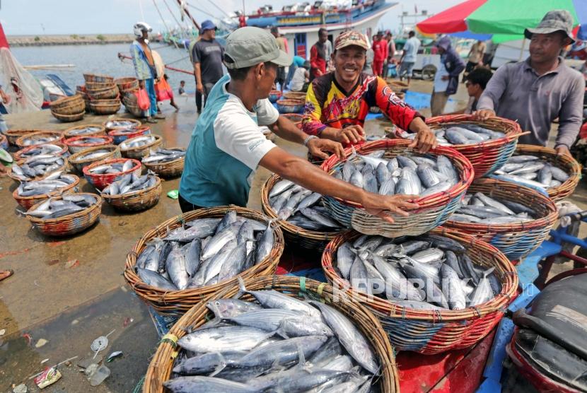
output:
<path id="1" fill-rule="evenodd" d="M 153 239 L 136 259 L 136 274 L 166 291 L 210 286 L 261 262 L 273 248 L 274 230 L 229 211 L 199 218 L 187 228 Z"/>

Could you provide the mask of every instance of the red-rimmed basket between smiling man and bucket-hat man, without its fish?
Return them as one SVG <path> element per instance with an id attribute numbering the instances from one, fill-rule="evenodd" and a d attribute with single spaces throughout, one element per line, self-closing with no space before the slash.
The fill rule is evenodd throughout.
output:
<path id="1" fill-rule="evenodd" d="M 443 115 L 426 119 L 426 124 L 431 129 L 441 127 L 459 126 L 461 124 L 479 124 L 487 129 L 501 131 L 506 136 L 499 139 L 492 139 L 474 145 L 454 145 L 454 148 L 463 156 L 467 157 L 475 169 L 475 179 L 489 175 L 501 168 L 516 150 L 518 138 L 524 133 L 520 125 L 501 117 L 492 117 L 484 122 L 477 122 L 472 115 Z"/>

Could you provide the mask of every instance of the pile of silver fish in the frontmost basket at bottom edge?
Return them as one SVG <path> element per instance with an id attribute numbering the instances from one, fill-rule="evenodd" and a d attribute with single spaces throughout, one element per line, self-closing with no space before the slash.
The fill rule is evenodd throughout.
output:
<path id="1" fill-rule="evenodd" d="M 371 392 L 378 359 L 342 312 L 243 281 L 240 291 L 257 301 L 211 301 L 214 319 L 178 340 L 171 392 Z"/>

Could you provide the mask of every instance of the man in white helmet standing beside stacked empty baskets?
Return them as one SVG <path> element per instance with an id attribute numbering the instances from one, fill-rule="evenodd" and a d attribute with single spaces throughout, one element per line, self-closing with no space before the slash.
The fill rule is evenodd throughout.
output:
<path id="1" fill-rule="evenodd" d="M 157 71 L 155 69 L 151 47 L 146 42 L 147 37 L 149 37 L 149 32 L 152 30 L 151 26 L 145 22 L 138 22 L 134 25 L 134 37 L 136 39 L 130 45 L 130 54 L 132 64 L 134 64 L 134 73 L 136 74 L 136 78 L 139 79 L 139 85 L 146 90 L 149 95 L 149 101 L 151 102 L 147 122 L 156 123 L 154 118 L 165 119 L 165 116 L 157 113 L 157 95 L 155 93 Z"/>

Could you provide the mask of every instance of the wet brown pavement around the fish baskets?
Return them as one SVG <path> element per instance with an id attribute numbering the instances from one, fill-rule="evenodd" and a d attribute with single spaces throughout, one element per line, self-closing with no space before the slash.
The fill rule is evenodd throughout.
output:
<path id="1" fill-rule="evenodd" d="M 414 81 L 413 90 L 429 92 L 431 83 Z M 447 112 L 464 105 L 464 88 Z M 163 136 L 165 146 L 187 146 L 197 119 L 193 97 L 178 99 L 180 112 L 165 106 L 165 121 L 151 124 L 153 133 Z M 423 110 L 424 115 L 429 111 Z M 122 112 L 119 115 L 123 115 Z M 57 122 L 49 111 L 10 115 L 6 121 L 13 129 L 66 129 L 76 124 L 104 122 L 107 117 L 87 115 L 78 123 Z M 368 121 L 368 134 L 383 135 L 388 122 Z M 298 156 L 306 149 L 277 140 L 279 146 Z M 260 209 L 259 189 L 269 172 L 257 171 L 250 193 L 249 206 Z M 106 363 L 110 375 L 95 392 L 132 392 L 146 373 L 158 336 L 146 306 L 136 298 L 124 282 L 124 259 L 132 245 L 147 230 L 181 213 L 177 201 L 166 197 L 178 189 L 179 179 L 163 182 L 159 203 L 140 213 L 118 213 L 104 202 L 100 221 L 90 230 L 66 237 L 50 238 L 33 230 L 21 214 L 11 192 L 16 183 L 0 178 L 0 269 L 13 269 L 14 276 L 0 282 L 0 391 L 11 391 L 13 384 L 24 382 L 29 392 L 38 389 L 29 380 L 46 365 L 68 358 L 71 364 L 59 367 L 62 380 L 45 392 L 80 392 L 90 388 L 76 362 L 92 355 L 93 339 L 115 329 L 108 338 L 110 345 L 100 353 L 123 351 L 122 358 Z M 93 187 L 81 179 L 84 192 Z M 587 192 L 581 184 L 575 201 L 587 206 Z M 291 250 L 289 252 L 296 252 Z M 132 321 L 132 322 L 131 322 Z M 47 344 L 36 348 L 39 339 Z M 48 360 L 45 360 L 48 359 Z"/>

